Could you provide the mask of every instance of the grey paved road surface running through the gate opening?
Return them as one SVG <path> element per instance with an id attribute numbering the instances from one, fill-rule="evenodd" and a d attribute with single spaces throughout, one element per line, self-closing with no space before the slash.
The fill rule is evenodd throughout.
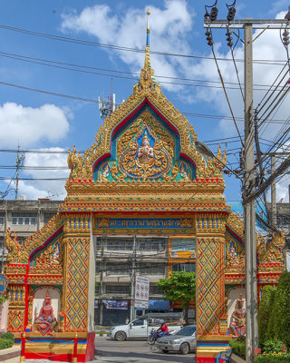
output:
<path id="1" fill-rule="evenodd" d="M 195 355 L 182 356 L 178 353 L 164 354 L 145 340 L 116 341 L 107 337 L 96 338 L 96 355 L 93 363 L 195 363 Z M 27 363 L 40 363 L 40 360 L 26 359 Z M 52 363 L 42 359 L 42 363 Z M 57 363 L 57 362 L 54 362 Z"/>

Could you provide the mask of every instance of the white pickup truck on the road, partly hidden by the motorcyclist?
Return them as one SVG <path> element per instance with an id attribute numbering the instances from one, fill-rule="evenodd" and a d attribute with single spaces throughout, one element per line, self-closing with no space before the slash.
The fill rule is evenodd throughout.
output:
<path id="1" fill-rule="evenodd" d="M 169 333 L 177 333 L 182 326 L 172 325 L 167 322 Z M 150 335 L 151 329 L 160 328 L 160 324 L 152 324 L 150 319 L 142 318 L 132 320 L 129 324 L 118 325 L 110 329 L 110 337 L 116 340 L 126 340 L 127 338 L 147 338 Z"/>

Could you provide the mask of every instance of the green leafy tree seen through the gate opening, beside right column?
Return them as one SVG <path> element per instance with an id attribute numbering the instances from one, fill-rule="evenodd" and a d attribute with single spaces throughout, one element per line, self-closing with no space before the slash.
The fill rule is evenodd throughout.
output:
<path id="1" fill-rule="evenodd" d="M 157 285 L 165 292 L 165 299 L 183 303 L 184 319 L 188 322 L 189 301 L 196 299 L 196 273 L 172 271 L 168 279 L 160 279 Z"/>

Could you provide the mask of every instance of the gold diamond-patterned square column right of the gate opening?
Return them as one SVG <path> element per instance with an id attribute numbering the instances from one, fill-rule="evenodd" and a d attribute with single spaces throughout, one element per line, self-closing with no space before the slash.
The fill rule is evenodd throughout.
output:
<path id="1" fill-rule="evenodd" d="M 197 363 L 212 363 L 227 350 L 225 317 L 225 216 L 197 217 Z"/>

